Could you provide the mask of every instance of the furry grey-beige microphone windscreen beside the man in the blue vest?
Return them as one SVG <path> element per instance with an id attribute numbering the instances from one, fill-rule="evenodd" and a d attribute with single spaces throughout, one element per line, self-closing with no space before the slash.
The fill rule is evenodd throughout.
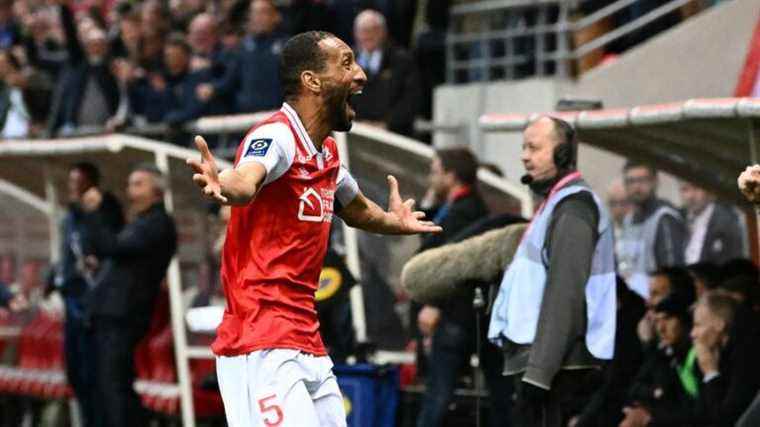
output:
<path id="1" fill-rule="evenodd" d="M 401 272 L 401 285 L 422 304 L 451 297 L 471 281 L 492 282 L 512 262 L 526 224 L 509 225 L 422 252 Z"/>

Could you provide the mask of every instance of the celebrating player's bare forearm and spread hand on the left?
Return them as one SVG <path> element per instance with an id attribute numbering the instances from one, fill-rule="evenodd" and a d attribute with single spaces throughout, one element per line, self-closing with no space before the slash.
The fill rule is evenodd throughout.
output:
<path id="1" fill-rule="evenodd" d="M 225 205 L 247 205 L 253 201 L 267 174 L 262 164 L 249 162 L 220 173 L 203 137 L 195 137 L 195 146 L 201 160 L 187 159 L 187 164 L 195 172 L 193 182 L 204 197 Z"/>

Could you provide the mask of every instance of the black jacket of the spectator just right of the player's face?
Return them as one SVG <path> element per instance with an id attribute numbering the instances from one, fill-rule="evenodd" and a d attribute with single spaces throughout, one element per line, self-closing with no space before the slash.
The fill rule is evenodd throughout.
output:
<path id="1" fill-rule="evenodd" d="M 358 55 L 358 53 L 357 53 Z M 388 130 L 411 135 L 420 110 L 420 83 L 414 61 L 403 49 L 386 48 L 380 69 L 367 73 L 362 95 L 351 99 L 358 120 L 380 121 Z"/>

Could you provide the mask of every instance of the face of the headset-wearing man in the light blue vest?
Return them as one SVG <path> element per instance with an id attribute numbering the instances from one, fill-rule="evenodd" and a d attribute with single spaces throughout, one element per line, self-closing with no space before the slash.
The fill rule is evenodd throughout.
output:
<path id="1" fill-rule="evenodd" d="M 547 181 L 557 176 L 557 166 L 554 164 L 557 142 L 554 122 L 547 117 L 536 120 L 523 131 L 520 160 L 525 172 L 534 180 Z"/>

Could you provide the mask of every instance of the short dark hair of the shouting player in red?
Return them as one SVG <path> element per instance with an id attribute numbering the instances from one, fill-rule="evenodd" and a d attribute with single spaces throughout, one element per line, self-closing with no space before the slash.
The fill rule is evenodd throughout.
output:
<path id="1" fill-rule="evenodd" d="M 335 37 L 327 31 L 307 31 L 296 34 L 285 43 L 280 54 L 280 84 L 286 101 L 301 91 L 301 73 L 306 70 L 321 72 L 327 66 L 327 53 L 319 42 Z"/>

